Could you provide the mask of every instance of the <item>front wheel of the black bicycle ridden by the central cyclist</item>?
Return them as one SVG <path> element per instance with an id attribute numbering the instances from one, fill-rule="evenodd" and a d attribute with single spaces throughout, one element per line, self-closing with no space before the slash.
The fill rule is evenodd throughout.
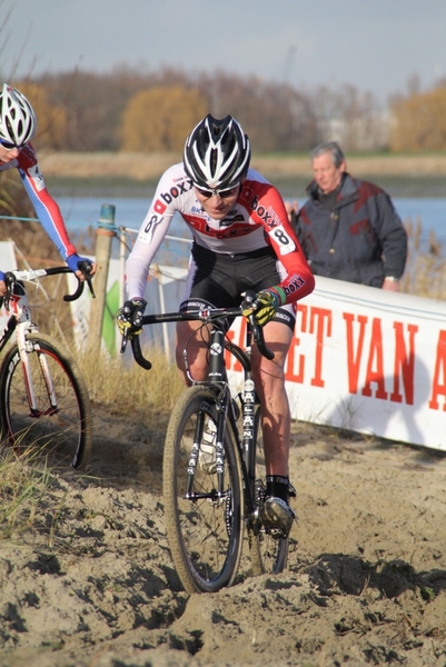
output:
<path id="1" fill-rule="evenodd" d="M 187 593 L 214 593 L 230 586 L 241 556 L 244 509 L 241 470 L 225 437 L 222 494 L 212 460 L 217 411 L 206 387 L 187 389 L 168 427 L 162 495 L 170 552 Z M 197 466 L 190 466 L 192 447 Z M 186 497 L 188 496 L 188 497 Z"/>

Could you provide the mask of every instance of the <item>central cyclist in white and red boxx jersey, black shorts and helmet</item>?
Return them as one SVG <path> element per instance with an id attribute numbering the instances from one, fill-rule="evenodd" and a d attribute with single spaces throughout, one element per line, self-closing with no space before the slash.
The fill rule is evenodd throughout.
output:
<path id="1" fill-rule="evenodd" d="M 217 120 L 209 115 L 192 130 L 184 161 L 161 177 L 127 260 L 129 300 L 117 322 L 121 332 L 140 331 L 148 270 L 177 211 L 194 237 L 180 310 L 240 306 L 246 290 L 257 292 L 254 313 L 265 325 L 265 342 L 275 354 L 268 360 L 256 347 L 252 350 L 267 469 L 262 520 L 275 536 L 286 537 L 295 515 L 288 505 L 291 419 L 284 367 L 295 303 L 313 291 L 315 280 L 279 192 L 249 162 L 249 139 L 231 116 Z M 191 377 L 207 377 L 208 347 L 202 334 L 197 336 L 199 327 L 195 321 L 177 325 L 177 366 L 186 382 L 186 344 Z"/>

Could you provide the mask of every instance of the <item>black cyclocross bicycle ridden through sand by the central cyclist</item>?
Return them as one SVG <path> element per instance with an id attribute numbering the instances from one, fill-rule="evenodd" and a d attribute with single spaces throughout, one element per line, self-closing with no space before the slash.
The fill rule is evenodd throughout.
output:
<path id="1" fill-rule="evenodd" d="M 246 299 L 254 297 L 252 292 Z M 226 336 L 227 318 L 241 316 L 245 307 L 246 301 L 239 308 L 142 318 L 142 326 L 178 320 L 199 320 L 202 328 L 210 325 L 208 378 L 197 382 L 189 376 L 191 386 L 169 420 L 162 464 L 166 530 L 187 593 L 214 593 L 234 583 L 245 528 L 254 575 L 281 573 L 287 564 L 288 538 L 277 538 L 260 520 L 266 468 L 260 405 L 251 372 L 254 342 L 266 357 L 274 355 L 252 316 L 246 325 L 244 348 Z M 126 345 L 125 338 L 121 351 Z M 131 346 L 136 361 L 149 369 L 138 336 L 131 338 Z M 228 380 L 226 352 L 234 355 L 242 370 L 239 392 Z M 184 356 L 188 368 L 187 347 Z"/>

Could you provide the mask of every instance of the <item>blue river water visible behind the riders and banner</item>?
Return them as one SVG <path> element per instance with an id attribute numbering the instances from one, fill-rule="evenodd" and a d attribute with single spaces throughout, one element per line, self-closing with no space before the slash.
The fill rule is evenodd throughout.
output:
<path id="1" fill-rule="evenodd" d="M 409 221 L 413 227 L 420 222 L 422 251 L 428 249 L 429 235 L 434 232 L 440 243 L 442 255 L 446 257 L 446 198 L 393 198 L 393 202 L 406 227 Z M 70 233 L 71 228 L 76 228 L 77 233 L 79 228 L 96 226 L 102 203 L 115 205 L 117 227 L 138 230 L 147 213 L 150 199 L 122 197 L 103 200 L 98 197 L 58 197 L 58 203 Z M 188 238 L 187 228 L 180 216 L 174 218 L 169 235 Z"/>

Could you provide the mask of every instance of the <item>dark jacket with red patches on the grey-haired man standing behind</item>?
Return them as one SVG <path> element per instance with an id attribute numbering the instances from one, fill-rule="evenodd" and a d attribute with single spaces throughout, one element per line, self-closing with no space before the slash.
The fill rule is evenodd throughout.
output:
<path id="1" fill-rule="evenodd" d="M 316 276 L 371 287 L 403 276 L 407 235 L 384 190 L 346 173 L 333 210 L 321 203 L 316 181 L 307 192 L 296 232 Z"/>

